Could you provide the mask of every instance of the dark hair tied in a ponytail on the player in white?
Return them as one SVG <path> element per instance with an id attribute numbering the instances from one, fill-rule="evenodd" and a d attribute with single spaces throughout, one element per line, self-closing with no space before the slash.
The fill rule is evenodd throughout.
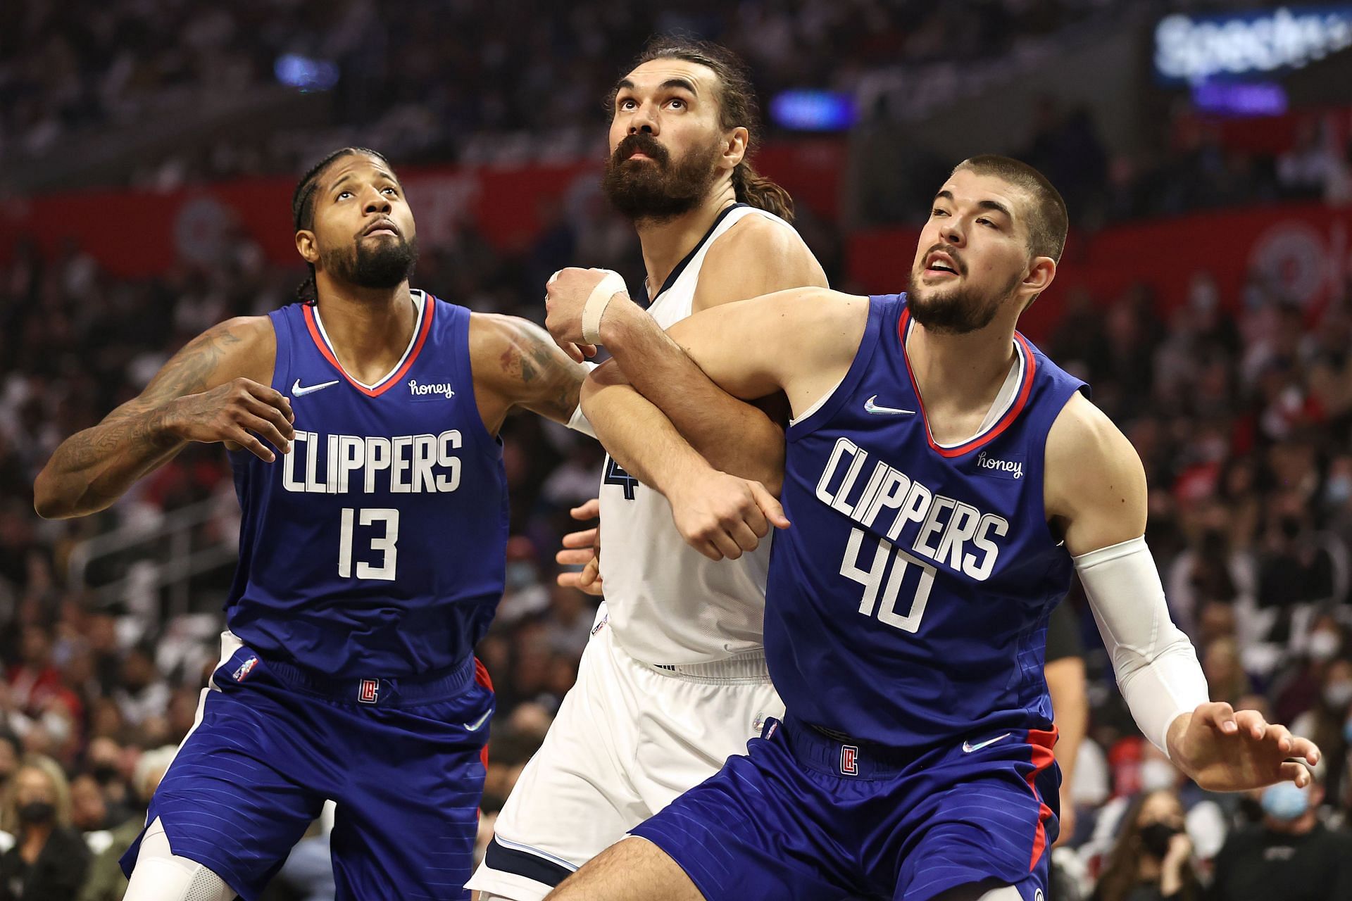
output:
<path id="1" fill-rule="evenodd" d="M 737 200 L 758 209 L 772 212 L 786 222 L 794 222 L 794 199 L 787 190 L 756 172 L 750 158 L 760 143 L 760 107 L 756 104 L 756 91 L 752 88 L 750 72 L 746 63 L 727 47 L 710 41 L 695 41 L 676 35 L 652 38 L 629 66 L 633 72 L 653 59 L 684 59 L 708 66 L 718 76 L 718 124 L 722 128 L 746 128 L 746 154 L 733 169 L 733 190 Z M 610 115 L 615 115 L 615 95 L 610 92 L 607 101 Z"/>

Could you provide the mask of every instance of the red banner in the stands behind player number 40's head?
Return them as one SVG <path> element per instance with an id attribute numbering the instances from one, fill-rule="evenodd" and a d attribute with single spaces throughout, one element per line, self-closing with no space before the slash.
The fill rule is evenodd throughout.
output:
<path id="1" fill-rule="evenodd" d="M 915 230 L 859 232 L 850 238 L 850 278 L 864 290 L 904 290 L 915 255 Z M 1086 289 L 1111 301 L 1134 285 L 1149 286 L 1160 313 L 1183 303 L 1197 273 L 1210 273 L 1221 303 L 1236 307 L 1251 273 L 1317 312 L 1352 292 L 1352 209 L 1283 204 L 1224 209 L 1071 234 L 1056 282 L 1023 315 L 1021 330 L 1045 334 L 1064 299 Z"/>

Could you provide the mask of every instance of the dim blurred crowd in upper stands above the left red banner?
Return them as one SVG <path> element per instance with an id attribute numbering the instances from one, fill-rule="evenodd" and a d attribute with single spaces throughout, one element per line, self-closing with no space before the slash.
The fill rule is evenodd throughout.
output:
<path id="1" fill-rule="evenodd" d="M 335 66 L 331 104 L 304 122 L 211 128 L 210 142 L 138 146 L 138 184 L 296 172 L 318 149 L 380 146 L 404 162 L 595 153 L 602 100 L 652 34 L 725 43 L 769 99 L 849 91 L 879 66 L 999 58 L 1084 19 L 1101 0 L 73 0 L 0 5 L 0 159 L 39 159 L 89 135 L 154 134 L 277 85 L 277 61 Z M 842 57 L 841 49 L 849 47 Z M 264 124 L 265 123 L 265 124 Z M 203 122 L 203 130 L 207 130 Z M 356 136 L 360 140 L 354 140 Z M 111 146 L 111 145 L 110 145 Z"/>

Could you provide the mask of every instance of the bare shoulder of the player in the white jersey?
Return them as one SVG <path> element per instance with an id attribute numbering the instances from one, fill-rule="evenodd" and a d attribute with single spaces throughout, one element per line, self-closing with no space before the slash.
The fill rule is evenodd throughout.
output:
<path id="1" fill-rule="evenodd" d="M 826 273 L 813 251 L 788 223 L 753 212 L 710 244 L 695 308 L 803 285 L 826 286 Z"/>

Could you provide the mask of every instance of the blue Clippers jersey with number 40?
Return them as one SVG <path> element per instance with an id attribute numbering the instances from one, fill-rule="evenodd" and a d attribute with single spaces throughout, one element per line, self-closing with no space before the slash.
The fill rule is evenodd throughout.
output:
<path id="1" fill-rule="evenodd" d="M 1018 335 L 1009 411 L 940 447 L 906 361 L 909 320 L 904 294 L 871 297 L 845 381 L 788 430 L 771 678 L 790 715 L 890 746 L 1048 728 L 1046 620 L 1072 563 L 1046 523 L 1042 457 L 1084 382 Z"/>

